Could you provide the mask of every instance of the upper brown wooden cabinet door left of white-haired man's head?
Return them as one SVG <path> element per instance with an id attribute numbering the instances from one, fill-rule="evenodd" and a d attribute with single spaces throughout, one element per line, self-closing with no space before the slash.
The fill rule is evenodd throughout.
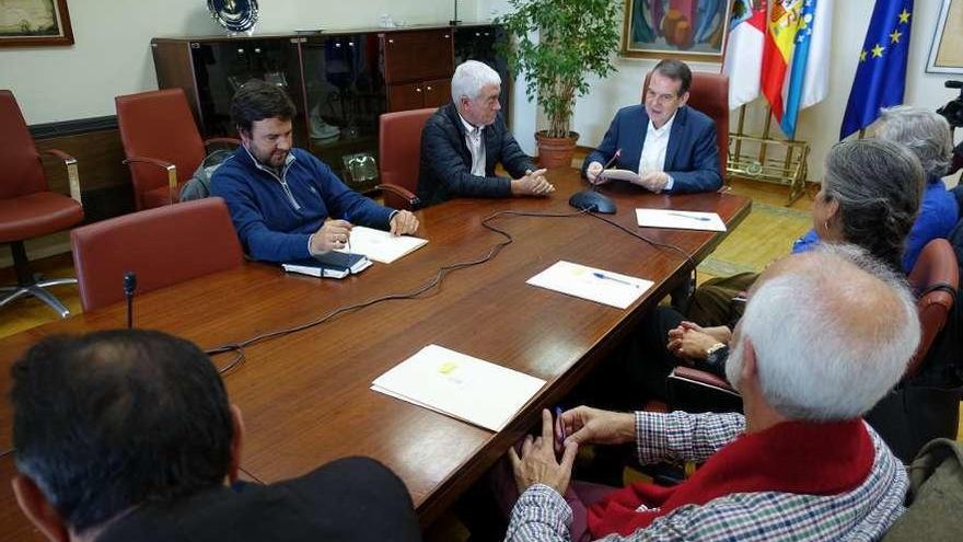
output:
<path id="1" fill-rule="evenodd" d="M 386 32 L 382 39 L 384 80 L 387 83 L 451 78 L 454 72 L 449 28 Z"/>

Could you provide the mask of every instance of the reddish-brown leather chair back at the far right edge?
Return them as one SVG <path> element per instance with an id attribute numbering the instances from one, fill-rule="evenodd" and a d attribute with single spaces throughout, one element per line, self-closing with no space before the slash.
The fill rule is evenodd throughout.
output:
<path id="1" fill-rule="evenodd" d="M 960 289 L 960 266 L 953 245 L 945 239 L 935 239 L 923 247 L 913 270 L 909 284 L 916 289 L 919 310 L 919 325 L 923 336 L 919 347 L 906 368 L 906 377 L 919 371 L 929 348 L 947 323 Z"/>

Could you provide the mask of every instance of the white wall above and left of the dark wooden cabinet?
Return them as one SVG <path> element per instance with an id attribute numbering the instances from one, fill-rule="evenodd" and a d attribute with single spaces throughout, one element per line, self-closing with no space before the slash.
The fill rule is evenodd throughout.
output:
<path id="1" fill-rule="evenodd" d="M 477 0 L 460 0 L 465 14 Z M 387 13 L 407 24 L 446 24 L 452 0 L 260 0 L 255 33 L 378 26 Z M 0 49 L 0 89 L 16 96 L 27 124 L 114 114 L 114 96 L 158 88 L 150 39 L 222 34 L 204 0 L 71 0 L 71 47 Z M 462 19 L 471 19 L 463 16 Z"/>

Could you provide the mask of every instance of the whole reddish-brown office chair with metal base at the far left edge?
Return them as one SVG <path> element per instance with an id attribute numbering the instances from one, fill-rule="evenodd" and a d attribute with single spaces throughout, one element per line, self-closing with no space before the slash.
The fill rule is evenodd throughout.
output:
<path id="1" fill-rule="evenodd" d="M 77 279 L 37 280 L 23 245 L 24 240 L 66 230 L 83 220 L 77 160 L 59 150 L 46 152 L 63 160 L 70 197 L 48 188 L 40 155 L 16 100 L 9 90 L 0 90 L 0 243 L 10 243 L 18 282 L 0 288 L 0 307 L 33 296 L 67 318 L 70 311 L 45 288 L 76 284 Z"/>

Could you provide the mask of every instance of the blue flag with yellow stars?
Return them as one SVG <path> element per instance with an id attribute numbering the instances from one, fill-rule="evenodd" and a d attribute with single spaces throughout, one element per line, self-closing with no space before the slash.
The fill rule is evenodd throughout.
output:
<path id="1" fill-rule="evenodd" d="M 872 124 L 881 107 L 903 103 L 912 14 L 913 0 L 877 0 L 839 139 Z"/>

